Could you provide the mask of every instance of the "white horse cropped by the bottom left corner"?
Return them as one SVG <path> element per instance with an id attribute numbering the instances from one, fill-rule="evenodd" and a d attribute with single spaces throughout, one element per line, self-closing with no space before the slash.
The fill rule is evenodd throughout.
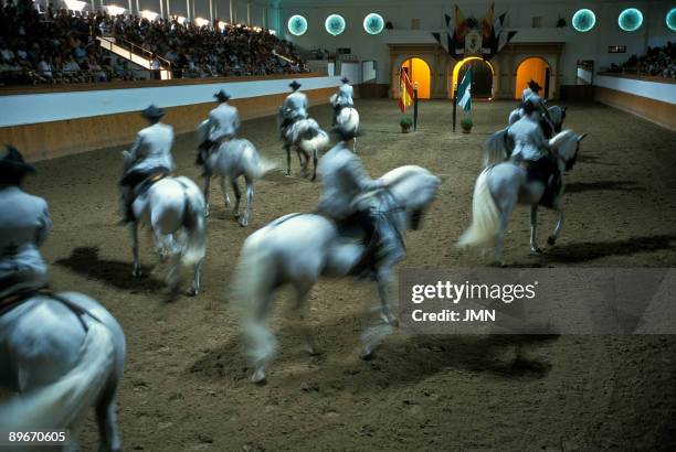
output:
<path id="1" fill-rule="evenodd" d="M 115 394 L 125 335 L 95 300 L 75 292 L 36 293 L 0 315 L 0 403 L 3 431 L 70 430 L 70 450 L 94 408 L 102 451 L 120 451 Z"/>

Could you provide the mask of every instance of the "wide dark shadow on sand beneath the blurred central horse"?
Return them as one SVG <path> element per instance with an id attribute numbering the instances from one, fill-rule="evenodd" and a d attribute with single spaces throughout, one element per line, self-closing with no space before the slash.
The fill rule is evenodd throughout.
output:
<path id="1" fill-rule="evenodd" d="M 268 368 L 272 384 L 296 385 L 308 381 L 331 391 L 347 390 L 351 394 L 369 391 L 373 386 L 406 386 L 416 384 L 440 372 L 458 369 L 473 374 L 489 373 L 498 378 L 539 379 L 547 376 L 549 363 L 525 357 L 516 357 L 516 349 L 521 347 L 537 354 L 539 345 L 556 341 L 558 335 L 419 335 L 402 341 L 388 341 L 378 348 L 370 360 L 356 358 L 357 348 L 352 351 L 355 359 L 327 359 L 336 351 L 323 337 L 350 335 L 355 345 L 359 343 L 359 332 L 350 324 L 353 318 L 331 320 L 330 323 L 313 324 L 311 332 L 320 349 L 319 355 L 309 356 L 300 349 L 303 335 L 289 319 L 281 330 L 274 331 L 279 340 L 279 354 Z M 360 322 L 358 322 L 360 323 Z M 391 337 L 397 337 L 398 331 Z M 507 359 L 500 355 L 507 354 Z M 292 375 L 275 373 L 275 368 L 289 363 L 300 364 Z M 303 368 L 303 367 L 309 368 Z M 192 362 L 186 373 L 194 378 L 228 379 L 252 385 L 252 368 L 245 359 L 245 349 L 240 336 L 209 351 Z"/>

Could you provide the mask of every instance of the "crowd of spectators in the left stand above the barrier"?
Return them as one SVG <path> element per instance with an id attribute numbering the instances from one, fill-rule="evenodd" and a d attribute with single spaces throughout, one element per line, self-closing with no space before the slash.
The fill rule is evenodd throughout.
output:
<path id="1" fill-rule="evenodd" d="M 145 53 L 152 69 L 170 68 L 175 78 L 308 72 L 293 44 L 265 29 L 218 21 L 214 25 L 73 13 L 51 6 L 39 12 L 32 0 L 7 0 L 0 6 L 0 86 L 159 75 L 104 51 L 95 39 L 102 34 L 117 37 L 123 46 L 134 44 L 133 51 Z"/>

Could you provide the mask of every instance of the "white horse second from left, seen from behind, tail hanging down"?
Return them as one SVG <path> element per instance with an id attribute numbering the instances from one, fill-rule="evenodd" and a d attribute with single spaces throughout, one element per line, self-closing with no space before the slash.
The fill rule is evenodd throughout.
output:
<path id="1" fill-rule="evenodd" d="M 125 168 L 130 164 L 129 153 L 123 152 Z M 169 255 L 167 283 L 175 291 L 179 283 L 181 263 L 193 266 L 190 294 L 200 291 L 200 269 L 207 249 L 205 202 L 200 189 L 188 177 L 167 176 L 152 183 L 148 191 L 137 196 L 131 204 L 134 222 L 129 224 L 131 233 L 131 252 L 134 269 L 131 275 L 141 275 L 138 259 L 138 225 L 150 226 L 155 245 L 160 259 Z M 175 234 L 178 237 L 175 238 Z"/>

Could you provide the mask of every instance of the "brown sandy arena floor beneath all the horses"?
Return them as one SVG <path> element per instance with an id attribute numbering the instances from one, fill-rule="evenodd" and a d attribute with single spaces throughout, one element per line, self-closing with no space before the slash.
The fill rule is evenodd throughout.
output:
<path id="1" fill-rule="evenodd" d="M 414 163 L 443 179 L 422 230 L 409 235 L 406 267 L 489 263 L 453 244 L 468 225 L 479 143 L 503 127 L 514 103 L 473 107 L 472 134 L 451 132 L 446 101 L 423 103 L 418 132 L 401 134 L 393 100 L 358 101 L 366 133 L 358 151 L 373 176 Z M 567 179 L 561 239 L 531 256 L 528 209 L 520 207 L 507 235 L 508 262 L 675 267 L 676 133 L 604 106 L 568 111 L 566 126 L 589 137 Z M 311 115 L 330 123 L 327 106 Z M 274 118 L 247 121 L 241 134 L 285 164 Z M 178 172 L 198 181 L 194 147 L 196 136 L 184 134 L 173 152 Z M 119 151 L 40 162 L 27 190 L 50 203 L 54 230 L 44 255 L 53 286 L 101 300 L 127 335 L 118 394 L 125 450 L 676 448 L 676 337 L 397 333 L 365 363 L 359 333 L 376 294 L 351 280 L 324 281 L 313 291 L 309 322 L 324 352 L 317 357 L 302 351 L 294 323 L 279 320 L 288 297 L 277 298 L 282 353 L 270 384 L 255 387 L 228 309 L 231 273 L 244 238 L 281 215 L 311 209 L 319 185 L 285 177 L 282 169 L 268 174 L 256 184 L 244 229 L 212 184 L 203 292 L 168 302 L 165 268 L 145 235 L 146 276 L 131 278 L 127 229 L 116 226 Z M 540 214 L 541 246 L 553 219 Z M 514 365 L 518 343 L 531 345 L 531 363 Z M 84 450 L 96 441 L 88 421 Z"/>

